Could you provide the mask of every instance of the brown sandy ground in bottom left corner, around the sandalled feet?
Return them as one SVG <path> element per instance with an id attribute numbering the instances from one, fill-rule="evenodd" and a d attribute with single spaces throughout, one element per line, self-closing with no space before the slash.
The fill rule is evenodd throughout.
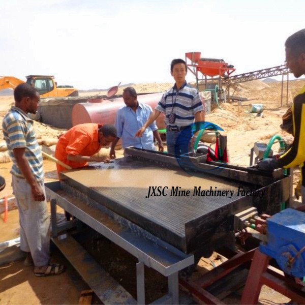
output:
<path id="1" fill-rule="evenodd" d="M 0 304 L 78 304 L 80 292 L 88 286 L 55 247 L 51 261 L 65 264 L 66 272 L 38 278 L 23 261 L 0 266 Z"/>

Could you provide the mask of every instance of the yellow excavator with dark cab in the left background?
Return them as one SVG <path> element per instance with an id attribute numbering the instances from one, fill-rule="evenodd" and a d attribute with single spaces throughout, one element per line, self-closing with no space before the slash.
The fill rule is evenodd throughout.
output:
<path id="1" fill-rule="evenodd" d="M 15 89 L 24 83 L 13 76 L 0 76 L 0 90 Z M 34 86 L 42 98 L 78 97 L 78 90 L 73 86 L 57 86 L 53 75 L 28 75 L 26 83 Z"/>

